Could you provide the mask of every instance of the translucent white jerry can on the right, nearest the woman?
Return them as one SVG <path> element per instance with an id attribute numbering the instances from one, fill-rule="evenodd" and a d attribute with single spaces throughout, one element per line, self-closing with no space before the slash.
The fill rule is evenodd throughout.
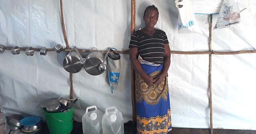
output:
<path id="1" fill-rule="evenodd" d="M 103 134 L 124 134 L 123 115 L 115 106 L 106 108 L 102 117 Z"/>

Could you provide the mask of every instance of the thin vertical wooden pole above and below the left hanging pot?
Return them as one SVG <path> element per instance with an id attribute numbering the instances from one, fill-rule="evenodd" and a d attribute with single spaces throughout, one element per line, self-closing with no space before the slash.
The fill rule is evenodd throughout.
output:
<path id="1" fill-rule="evenodd" d="M 64 24 L 62 0 L 60 0 L 60 13 L 61 13 L 62 31 L 63 31 L 64 39 L 65 39 L 65 42 L 66 42 L 66 48 L 69 48 L 68 37 L 67 37 L 67 34 L 66 34 L 65 24 Z M 70 99 L 73 99 L 73 95 L 74 95 L 73 73 L 70 73 Z"/>

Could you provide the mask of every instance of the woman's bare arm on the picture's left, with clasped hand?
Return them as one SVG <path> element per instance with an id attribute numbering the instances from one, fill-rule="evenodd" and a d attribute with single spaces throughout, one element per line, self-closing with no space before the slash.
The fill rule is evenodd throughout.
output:
<path id="1" fill-rule="evenodd" d="M 140 76 L 142 77 L 142 79 L 144 79 L 144 81 L 148 84 L 148 85 L 154 85 L 153 82 L 155 82 L 155 80 L 147 75 L 145 73 L 145 71 L 142 69 L 138 59 L 137 59 L 137 55 L 138 55 L 138 48 L 137 47 L 133 47 L 130 48 L 130 61 L 132 63 L 132 67 L 134 68 L 134 70 L 140 74 Z"/>

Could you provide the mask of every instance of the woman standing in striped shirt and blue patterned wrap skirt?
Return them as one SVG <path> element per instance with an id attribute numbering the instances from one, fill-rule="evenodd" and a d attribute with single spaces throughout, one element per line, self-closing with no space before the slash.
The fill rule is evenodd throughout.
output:
<path id="1" fill-rule="evenodd" d="M 167 71 L 170 47 L 166 33 L 155 29 L 158 9 L 144 11 L 144 28 L 130 40 L 130 61 L 136 71 L 135 93 L 138 134 L 167 134 L 172 129 Z"/>

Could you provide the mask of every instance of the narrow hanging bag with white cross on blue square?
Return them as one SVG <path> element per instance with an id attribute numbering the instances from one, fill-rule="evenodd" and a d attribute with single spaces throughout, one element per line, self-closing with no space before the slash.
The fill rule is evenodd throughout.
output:
<path id="1" fill-rule="evenodd" d="M 115 48 L 110 48 L 112 53 L 108 53 L 108 82 L 111 93 L 117 89 L 121 69 L 121 56 L 114 50 L 117 51 Z"/>

